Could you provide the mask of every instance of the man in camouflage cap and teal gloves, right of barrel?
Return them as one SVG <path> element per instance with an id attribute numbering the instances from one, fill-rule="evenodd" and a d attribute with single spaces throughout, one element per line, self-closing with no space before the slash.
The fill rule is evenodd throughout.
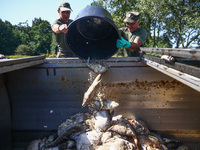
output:
<path id="1" fill-rule="evenodd" d="M 139 17 L 139 12 L 128 12 L 126 14 L 124 19 L 126 27 L 119 29 L 121 39 L 117 39 L 116 46 L 120 49 L 116 54 L 117 56 L 133 57 L 140 55 L 139 47 L 145 46 L 147 32 L 139 27 Z"/>

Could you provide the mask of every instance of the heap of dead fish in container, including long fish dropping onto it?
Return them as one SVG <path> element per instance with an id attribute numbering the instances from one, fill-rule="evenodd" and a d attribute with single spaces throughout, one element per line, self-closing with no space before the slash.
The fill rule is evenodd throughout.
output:
<path id="1" fill-rule="evenodd" d="M 178 140 L 152 133 L 141 120 L 114 116 L 119 104 L 96 96 L 106 69 L 100 67 L 84 95 L 82 106 L 92 111 L 67 118 L 56 135 L 32 141 L 28 150 L 189 150 Z"/>

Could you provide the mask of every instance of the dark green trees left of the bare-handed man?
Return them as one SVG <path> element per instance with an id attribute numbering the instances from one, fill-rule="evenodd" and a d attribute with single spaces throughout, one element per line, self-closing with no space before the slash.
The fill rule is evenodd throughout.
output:
<path id="1" fill-rule="evenodd" d="M 12 55 L 39 55 L 50 52 L 52 30 L 50 23 L 35 18 L 32 26 L 27 21 L 12 25 L 0 20 L 0 53 Z"/>

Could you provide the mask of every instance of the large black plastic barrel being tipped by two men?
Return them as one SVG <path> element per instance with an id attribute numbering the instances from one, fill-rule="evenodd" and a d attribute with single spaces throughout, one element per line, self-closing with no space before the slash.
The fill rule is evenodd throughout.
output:
<path id="1" fill-rule="evenodd" d="M 118 28 L 102 7 L 85 7 L 68 29 L 65 42 L 80 59 L 104 60 L 117 51 Z"/>

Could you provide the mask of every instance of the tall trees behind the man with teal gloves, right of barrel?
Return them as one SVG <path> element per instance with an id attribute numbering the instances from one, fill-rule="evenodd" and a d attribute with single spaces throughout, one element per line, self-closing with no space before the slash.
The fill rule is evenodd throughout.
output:
<path id="1" fill-rule="evenodd" d="M 107 9 L 118 27 L 125 25 L 128 11 L 141 12 L 140 26 L 148 33 L 146 46 L 199 45 L 200 3 L 195 0 L 94 0 L 92 5 Z"/>

